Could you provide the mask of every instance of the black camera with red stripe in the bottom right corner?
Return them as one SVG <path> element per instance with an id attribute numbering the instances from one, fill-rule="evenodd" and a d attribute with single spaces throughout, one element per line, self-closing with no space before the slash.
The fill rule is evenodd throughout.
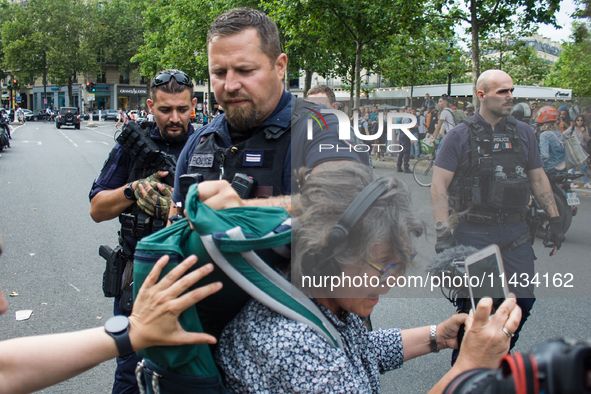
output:
<path id="1" fill-rule="evenodd" d="M 506 356 L 497 370 L 458 375 L 444 394 L 591 393 L 591 343 L 565 340 L 536 345 L 529 354 Z"/>

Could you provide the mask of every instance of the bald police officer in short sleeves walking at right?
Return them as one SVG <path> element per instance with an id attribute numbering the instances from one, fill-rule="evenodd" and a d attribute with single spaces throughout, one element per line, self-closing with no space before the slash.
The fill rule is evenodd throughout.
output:
<path id="1" fill-rule="evenodd" d="M 507 280 L 522 273 L 533 278 L 535 257 L 525 223 L 530 190 L 551 217 L 551 256 L 565 239 L 559 213 L 532 129 L 509 116 L 511 77 L 488 70 L 480 75 L 476 87 L 480 109 L 449 132 L 435 160 L 431 186 L 435 250 L 439 253 L 456 243 L 479 249 L 497 244 Z M 459 220 L 453 234 L 450 218 Z M 510 284 L 509 288 L 523 312 L 511 338 L 513 347 L 535 298 L 533 285 Z"/>

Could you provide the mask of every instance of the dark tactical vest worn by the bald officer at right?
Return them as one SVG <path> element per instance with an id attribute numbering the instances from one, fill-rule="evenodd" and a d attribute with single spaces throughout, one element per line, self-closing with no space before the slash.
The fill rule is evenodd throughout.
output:
<path id="1" fill-rule="evenodd" d="M 470 164 L 467 171 L 454 174 L 448 189 L 450 208 L 491 214 L 525 208 L 530 181 L 515 118 L 508 116 L 505 130 L 496 133 L 485 130 L 474 117 L 462 122 L 469 127 Z"/>

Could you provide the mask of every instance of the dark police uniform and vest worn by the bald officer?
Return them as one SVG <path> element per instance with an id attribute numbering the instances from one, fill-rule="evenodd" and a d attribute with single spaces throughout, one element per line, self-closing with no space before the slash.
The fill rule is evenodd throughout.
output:
<path id="1" fill-rule="evenodd" d="M 448 187 L 450 207 L 466 212 L 453 235 L 462 245 L 501 248 L 507 281 L 534 275 L 534 252 L 528 242 L 525 211 L 531 185 L 527 172 L 542 167 L 531 128 L 513 117 L 503 117 L 493 131 L 479 112 L 466 118 L 445 137 L 435 165 L 454 173 Z M 515 278 L 514 278 L 515 279 Z M 513 286 L 522 318 L 511 347 L 535 302 L 533 285 Z"/>

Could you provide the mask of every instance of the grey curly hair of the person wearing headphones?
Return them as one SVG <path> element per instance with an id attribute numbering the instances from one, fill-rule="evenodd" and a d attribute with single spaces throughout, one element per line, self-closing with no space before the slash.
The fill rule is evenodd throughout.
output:
<path id="1" fill-rule="evenodd" d="M 326 247 L 331 230 L 347 207 L 376 179 L 371 168 L 353 162 L 307 176 L 304 170 L 298 173 L 301 186 L 294 212 L 297 239 L 292 250 L 293 284 L 301 284 L 302 276 L 310 275 L 306 259 Z M 403 269 L 411 263 L 413 238 L 424 233 L 425 224 L 412 211 L 406 184 L 393 177 L 385 184 L 387 191 L 365 212 L 334 257 L 341 267 L 363 264 L 378 243 L 392 245 Z"/>

